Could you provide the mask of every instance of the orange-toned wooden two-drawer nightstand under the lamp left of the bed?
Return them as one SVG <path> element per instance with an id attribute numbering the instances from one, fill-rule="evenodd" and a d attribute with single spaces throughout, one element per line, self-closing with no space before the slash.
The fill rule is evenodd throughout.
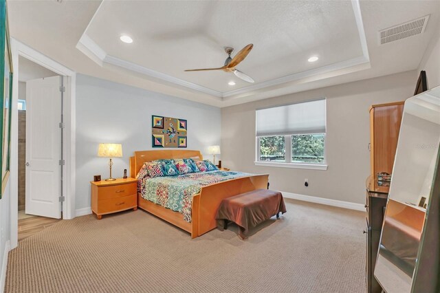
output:
<path id="1" fill-rule="evenodd" d="M 122 210 L 137 210 L 137 184 L 134 178 L 91 183 L 91 211 L 98 219 L 102 215 Z"/>

